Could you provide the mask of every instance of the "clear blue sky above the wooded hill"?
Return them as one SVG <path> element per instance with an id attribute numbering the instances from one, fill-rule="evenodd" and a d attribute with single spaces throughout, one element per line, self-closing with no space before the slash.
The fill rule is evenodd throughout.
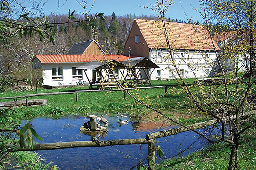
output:
<path id="1" fill-rule="evenodd" d="M 39 0 L 25 0 L 23 5 L 29 6 L 30 1 L 35 1 L 36 3 L 40 2 Z M 48 0 L 43 7 L 43 12 L 45 15 L 49 15 L 51 13 L 67 14 L 68 10 L 71 9 L 70 11 L 75 10 L 76 13 L 82 13 L 84 12 L 84 9 L 80 6 L 81 2 L 81 0 Z M 137 16 L 156 15 L 156 13 L 152 12 L 150 9 L 140 7 L 142 5 L 150 6 L 150 4 L 154 4 L 155 2 L 156 0 L 95 0 L 91 13 L 102 12 L 105 15 L 111 15 L 115 12 L 116 16 L 123 16 L 126 14 L 135 14 Z M 90 8 L 92 3 L 92 0 L 88 0 L 87 8 Z M 184 13 L 185 11 L 188 18 L 192 18 L 194 21 L 202 20 L 200 14 L 192 9 L 193 7 L 200 9 L 199 0 L 173 0 L 173 3 L 174 4 L 169 8 L 166 14 L 166 18 L 180 18 L 183 21 L 187 21 L 187 17 Z M 56 9 L 58 10 L 56 11 Z"/>

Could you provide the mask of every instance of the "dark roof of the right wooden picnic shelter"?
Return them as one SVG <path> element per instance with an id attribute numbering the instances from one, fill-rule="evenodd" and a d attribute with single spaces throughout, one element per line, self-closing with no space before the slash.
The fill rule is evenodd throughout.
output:
<path id="1" fill-rule="evenodd" d="M 132 68 L 159 68 L 155 63 L 149 60 L 147 57 L 134 57 L 129 58 L 122 62 L 125 66 L 130 66 Z"/>

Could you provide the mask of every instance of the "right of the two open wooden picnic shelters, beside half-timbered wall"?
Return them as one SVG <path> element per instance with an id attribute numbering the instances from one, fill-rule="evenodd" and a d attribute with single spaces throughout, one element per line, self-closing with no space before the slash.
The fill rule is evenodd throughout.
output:
<path id="1" fill-rule="evenodd" d="M 129 58 L 122 63 L 127 68 L 127 74 L 124 77 L 125 86 L 126 84 L 129 85 L 128 80 L 133 80 L 135 84 L 138 83 L 139 85 L 142 85 L 142 83 L 144 83 L 144 85 L 146 83 L 149 83 L 149 85 L 152 85 L 150 82 L 150 76 L 152 72 L 155 70 L 155 68 L 159 68 L 155 63 L 153 63 L 147 57 Z M 137 73 L 135 69 L 138 69 Z M 146 69 L 153 69 L 153 70 L 148 74 Z M 141 76 L 142 71 L 144 71 L 146 79 L 144 79 L 143 76 Z M 132 83 L 130 82 L 130 85 L 131 84 Z"/>

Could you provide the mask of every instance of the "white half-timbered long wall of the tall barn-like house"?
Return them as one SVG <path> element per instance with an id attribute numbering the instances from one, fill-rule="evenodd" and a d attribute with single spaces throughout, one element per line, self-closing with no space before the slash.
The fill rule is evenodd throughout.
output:
<path id="1" fill-rule="evenodd" d="M 176 50 L 172 55 L 183 78 L 203 78 L 214 74 L 214 66 L 216 66 L 214 51 Z M 153 71 L 152 80 L 178 78 L 167 50 L 151 49 L 150 60 L 160 67 Z"/>

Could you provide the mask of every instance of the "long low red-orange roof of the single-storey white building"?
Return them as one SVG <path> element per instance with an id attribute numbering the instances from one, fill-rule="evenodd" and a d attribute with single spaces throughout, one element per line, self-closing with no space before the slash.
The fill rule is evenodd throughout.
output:
<path id="1" fill-rule="evenodd" d="M 104 60 L 105 59 L 114 59 L 119 62 L 123 62 L 124 60 L 132 57 L 132 55 L 129 57 L 129 55 L 68 55 L 68 54 L 62 54 L 62 55 L 36 55 L 38 60 L 41 63 L 86 63 L 91 62 L 93 60 Z"/>

